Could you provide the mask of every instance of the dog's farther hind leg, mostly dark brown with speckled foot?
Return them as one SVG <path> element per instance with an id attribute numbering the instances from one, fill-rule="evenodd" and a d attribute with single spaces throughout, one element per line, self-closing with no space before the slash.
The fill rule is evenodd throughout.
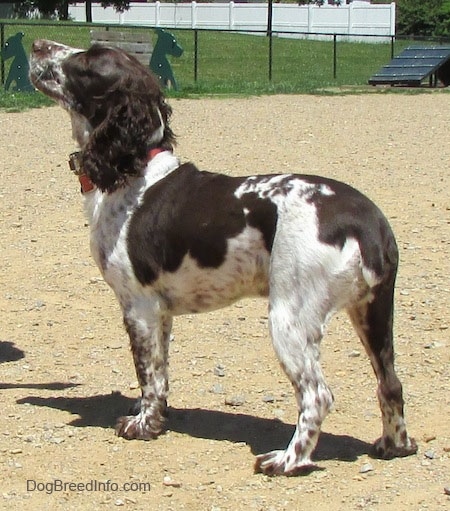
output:
<path id="1" fill-rule="evenodd" d="M 403 412 L 403 392 L 394 368 L 393 310 L 395 270 L 375 288 L 370 300 L 347 308 L 350 319 L 369 355 L 378 380 L 383 434 L 373 446 L 373 455 L 391 459 L 417 452 L 408 437 Z"/>

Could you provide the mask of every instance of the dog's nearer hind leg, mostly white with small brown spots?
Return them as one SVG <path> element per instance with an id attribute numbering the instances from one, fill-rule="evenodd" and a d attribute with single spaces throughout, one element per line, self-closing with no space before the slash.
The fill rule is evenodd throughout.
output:
<path id="1" fill-rule="evenodd" d="M 321 424 L 333 404 L 319 361 L 320 340 L 328 315 L 316 315 L 320 311 L 320 306 L 315 307 L 317 303 L 299 307 L 302 298 L 297 296 L 296 300 L 296 304 L 293 300 L 270 303 L 272 340 L 281 367 L 294 387 L 298 421 L 286 450 L 257 456 L 255 471 L 267 475 L 291 476 L 314 469 L 311 454 Z"/>

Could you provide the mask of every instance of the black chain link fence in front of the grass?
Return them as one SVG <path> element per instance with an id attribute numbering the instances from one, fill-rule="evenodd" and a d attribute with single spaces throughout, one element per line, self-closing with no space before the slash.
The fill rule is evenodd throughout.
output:
<path id="1" fill-rule="evenodd" d="M 41 38 L 88 48 L 91 31 L 99 29 L 145 32 L 156 43 L 157 35 L 151 27 L 18 20 L 0 21 L 0 43 L 4 48 L 11 37 L 23 34 L 19 38 L 26 55 L 32 42 Z M 351 34 L 302 34 L 304 38 L 300 39 L 286 37 L 294 35 L 293 32 L 267 35 L 266 31 L 167 30 L 184 49 L 182 57 L 170 58 L 180 88 L 216 93 L 246 89 L 258 92 L 258 87 L 267 90 L 270 86 L 278 92 L 295 92 L 321 86 L 367 84 L 373 73 L 412 42 L 411 38 L 395 36 L 367 35 L 377 43 L 370 44 L 350 42 Z M 414 42 L 418 40 L 427 45 L 449 43 L 433 38 L 414 39 Z M 3 89 L 8 85 L 13 60 L 2 51 Z"/>

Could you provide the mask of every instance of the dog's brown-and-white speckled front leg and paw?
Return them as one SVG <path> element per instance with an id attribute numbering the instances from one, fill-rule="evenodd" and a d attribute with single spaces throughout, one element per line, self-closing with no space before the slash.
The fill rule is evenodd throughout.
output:
<path id="1" fill-rule="evenodd" d="M 124 307 L 124 323 L 142 397 L 138 414 L 120 417 L 116 433 L 127 439 L 150 440 L 161 433 L 166 415 L 172 317 L 160 303 L 145 300 Z"/>

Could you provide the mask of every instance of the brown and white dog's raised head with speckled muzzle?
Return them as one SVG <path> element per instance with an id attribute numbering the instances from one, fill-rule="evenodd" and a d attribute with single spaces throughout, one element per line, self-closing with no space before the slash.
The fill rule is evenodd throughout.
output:
<path id="1" fill-rule="evenodd" d="M 173 148 L 171 109 L 158 80 L 118 48 L 35 41 L 30 78 L 69 111 L 83 171 L 102 190 L 142 175 L 150 149 Z"/>

